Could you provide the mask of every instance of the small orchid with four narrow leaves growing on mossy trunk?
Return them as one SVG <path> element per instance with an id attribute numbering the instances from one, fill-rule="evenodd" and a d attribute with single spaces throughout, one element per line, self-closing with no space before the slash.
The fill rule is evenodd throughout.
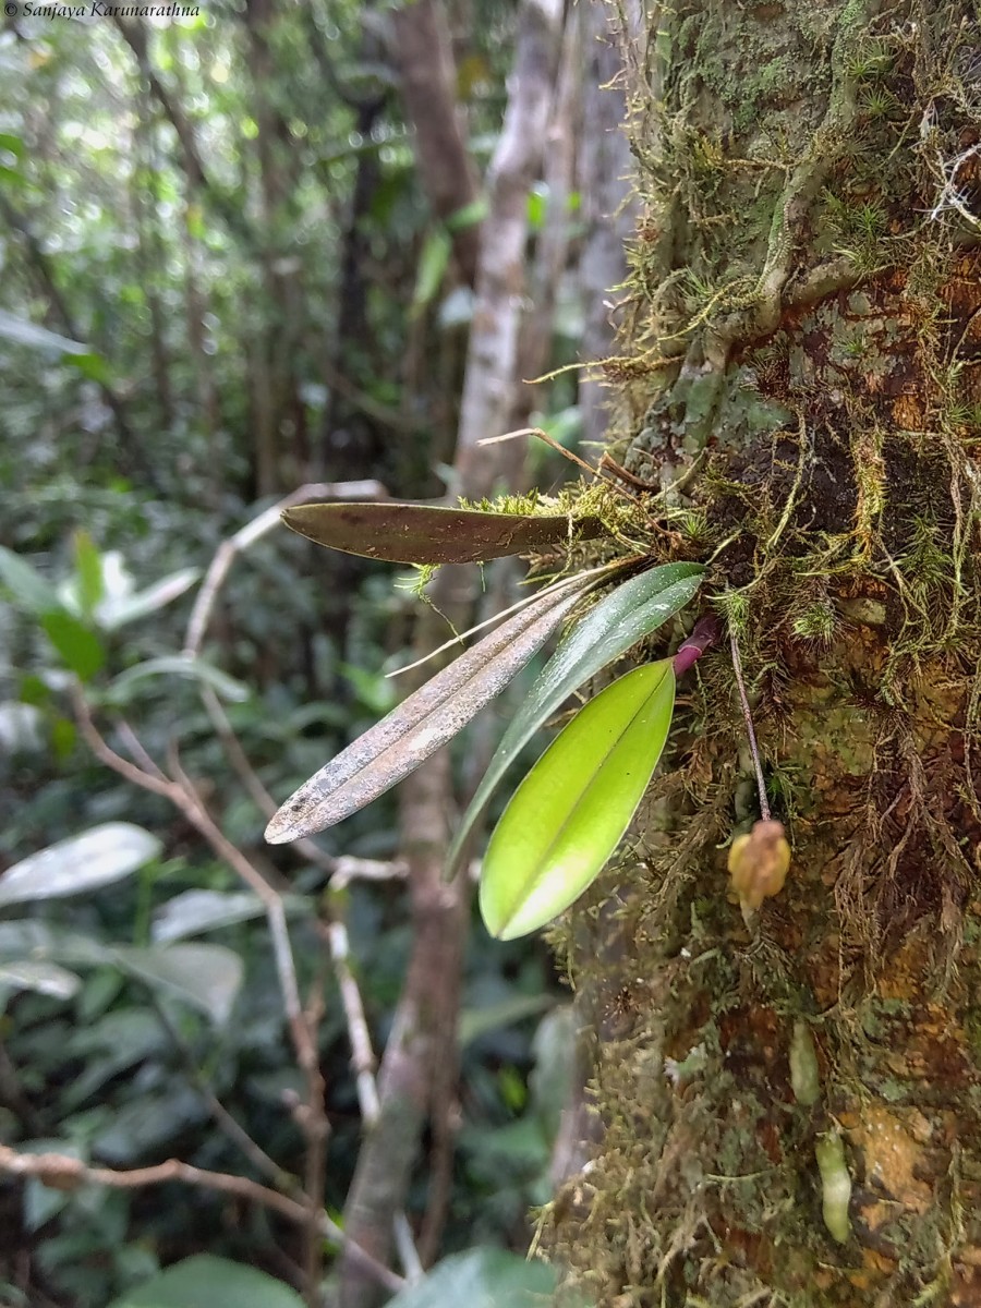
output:
<path id="1" fill-rule="evenodd" d="M 472 562 L 603 532 L 598 518 L 487 513 L 412 504 L 311 504 L 284 514 L 319 544 L 391 562 Z M 450 850 L 459 863 L 509 765 L 578 687 L 691 602 L 704 569 L 644 560 L 560 579 L 515 606 L 492 634 L 437 672 L 305 782 L 266 829 L 271 844 L 341 821 L 453 739 L 583 606 L 501 740 Z M 480 908 L 513 939 L 544 926 L 591 884 L 633 818 L 667 740 L 675 679 L 714 640 L 698 624 L 674 659 L 644 664 L 591 700 L 525 777 L 484 855 Z"/>

